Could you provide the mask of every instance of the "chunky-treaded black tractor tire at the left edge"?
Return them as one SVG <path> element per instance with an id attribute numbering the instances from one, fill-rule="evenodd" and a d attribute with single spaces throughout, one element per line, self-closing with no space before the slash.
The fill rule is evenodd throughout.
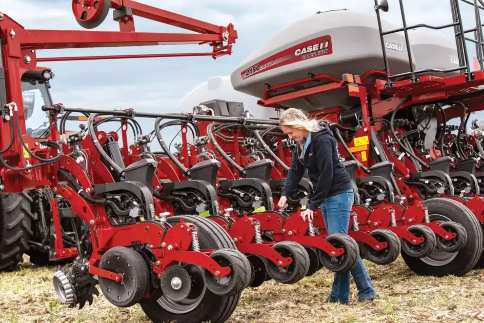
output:
<path id="1" fill-rule="evenodd" d="M 12 271 L 23 262 L 29 249 L 30 229 L 35 215 L 27 193 L 0 194 L 0 271 Z"/>

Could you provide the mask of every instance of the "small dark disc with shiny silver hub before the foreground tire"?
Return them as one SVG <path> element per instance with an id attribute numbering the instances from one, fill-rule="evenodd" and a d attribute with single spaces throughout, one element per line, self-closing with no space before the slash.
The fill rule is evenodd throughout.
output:
<path id="1" fill-rule="evenodd" d="M 160 285 L 166 298 L 179 302 L 190 295 L 192 280 L 182 266 L 172 265 L 163 271 Z"/>

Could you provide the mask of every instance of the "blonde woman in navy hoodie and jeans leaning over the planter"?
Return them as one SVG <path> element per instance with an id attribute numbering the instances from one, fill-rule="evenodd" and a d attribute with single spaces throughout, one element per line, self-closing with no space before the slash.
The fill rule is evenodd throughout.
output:
<path id="1" fill-rule="evenodd" d="M 292 194 L 307 168 L 314 192 L 308 207 L 302 212 L 302 219 L 312 220 L 314 210 L 321 207 L 328 234 L 347 234 L 354 192 L 333 133 L 317 120 L 308 119 L 302 111 L 293 108 L 284 111 L 279 125 L 289 139 L 299 142 L 293 153 L 279 207 L 287 207 L 287 196 Z M 358 300 L 372 301 L 377 292 L 361 258 L 351 269 L 351 275 L 358 287 Z M 326 301 L 348 303 L 349 287 L 350 272 L 336 272 Z"/>

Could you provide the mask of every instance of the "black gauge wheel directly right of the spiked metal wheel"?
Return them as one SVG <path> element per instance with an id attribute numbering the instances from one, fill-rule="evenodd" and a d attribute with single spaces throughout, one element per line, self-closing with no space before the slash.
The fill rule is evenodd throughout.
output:
<path id="1" fill-rule="evenodd" d="M 99 268 L 122 275 L 122 282 L 99 278 L 104 297 L 113 305 L 129 307 L 141 301 L 149 284 L 149 271 L 143 257 L 133 249 L 114 247 L 106 251 Z"/>

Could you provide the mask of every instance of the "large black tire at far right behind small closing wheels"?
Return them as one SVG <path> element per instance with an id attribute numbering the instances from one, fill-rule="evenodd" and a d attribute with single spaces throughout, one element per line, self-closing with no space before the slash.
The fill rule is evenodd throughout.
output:
<path id="1" fill-rule="evenodd" d="M 447 253 L 436 248 L 424 258 L 414 258 L 402 252 L 403 261 L 416 274 L 442 277 L 446 275 L 464 276 L 479 261 L 484 248 L 483 230 L 475 215 L 465 205 L 445 198 L 424 200 L 430 221 L 454 221 L 464 226 L 467 242 L 455 253 Z"/>

